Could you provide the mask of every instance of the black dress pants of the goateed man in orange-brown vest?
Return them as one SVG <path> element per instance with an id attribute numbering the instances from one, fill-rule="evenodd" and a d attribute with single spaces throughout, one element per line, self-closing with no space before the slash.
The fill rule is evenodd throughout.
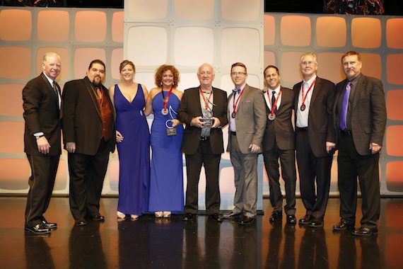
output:
<path id="1" fill-rule="evenodd" d="M 105 149 L 106 144 L 102 139 L 95 156 L 69 153 L 69 200 L 74 219 L 100 214 L 100 195 L 110 152 Z"/>

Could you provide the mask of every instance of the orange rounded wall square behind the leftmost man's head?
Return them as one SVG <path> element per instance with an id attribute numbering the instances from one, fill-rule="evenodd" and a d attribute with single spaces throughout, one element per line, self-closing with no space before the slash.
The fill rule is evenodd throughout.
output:
<path id="1" fill-rule="evenodd" d="M 70 69 L 70 63 L 69 63 L 69 50 L 67 50 L 64 47 L 40 47 L 37 49 L 36 52 L 36 71 L 37 74 L 40 74 L 43 69 L 42 69 L 42 60 L 43 60 L 43 55 L 47 52 L 55 52 L 57 55 L 60 56 L 60 61 L 62 62 L 62 69 L 60 70 L 59 76 L 57 76 L 57 81 L 61 81 L 62 79 L 69 78 L 69 69 Z"/>

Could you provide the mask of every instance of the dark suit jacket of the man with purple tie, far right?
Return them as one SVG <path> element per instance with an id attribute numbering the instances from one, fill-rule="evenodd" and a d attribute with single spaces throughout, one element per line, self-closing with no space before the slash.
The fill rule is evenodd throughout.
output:
<path id="1" fill-rule="evenodd" d="M 385 93 L 382 81 L 361 74 L 354 90 L 353 105 L 349 109 L 354 146 L 360 155 L 370 155 L 369 144 L 382 146 L 386 126 Z M 347 79 L 336 85 L 334 102 L 334 129 L 339 133 L 338 103 L 343 98 Z"/>

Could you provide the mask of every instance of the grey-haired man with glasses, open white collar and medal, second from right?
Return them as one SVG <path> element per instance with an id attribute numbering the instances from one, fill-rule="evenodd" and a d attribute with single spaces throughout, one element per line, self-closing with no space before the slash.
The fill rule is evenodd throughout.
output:
<path id="1" fill-rule="evenodd" d="M 296 156 L 300 194 L 306 209 L 300 225 L 323 227 L 329 198 L 330 168 L 336 134 L 333 126 L 334 84 L 316 75 L 317 57 L 300 57 L 303 81 L 294 85 L 296 111 Z"/>

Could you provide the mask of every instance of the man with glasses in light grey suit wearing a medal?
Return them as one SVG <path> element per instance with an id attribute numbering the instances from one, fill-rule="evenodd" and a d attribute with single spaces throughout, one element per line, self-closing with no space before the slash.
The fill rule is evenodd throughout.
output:
<path id="1" fill-rule="evenodd" d="M 234 208 L 225 217 L 238 224 L 255 222 L 257 206 L 257 156 L 262 153 L 266 105 L 262 91 L 246 84 L 245 64 L 231 66 L 235 85 L 228 98 L 228 149 L 235 173 Z"/>

